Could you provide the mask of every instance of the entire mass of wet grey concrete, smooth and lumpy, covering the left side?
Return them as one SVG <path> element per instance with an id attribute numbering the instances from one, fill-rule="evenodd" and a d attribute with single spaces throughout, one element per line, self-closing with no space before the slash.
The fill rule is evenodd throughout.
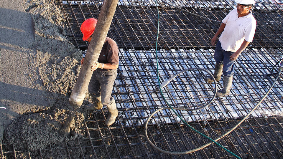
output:
<path id="1" fill-rule="evenodd" d="M 29 150 L 60 144 L 82 51 L 66 39 L 53 1 L 0 3 L 0 106 L 7 108 L 0 109 L 0 141 Z M 76 110 L 72 129 L 82 127 L 84 114 Z"/>

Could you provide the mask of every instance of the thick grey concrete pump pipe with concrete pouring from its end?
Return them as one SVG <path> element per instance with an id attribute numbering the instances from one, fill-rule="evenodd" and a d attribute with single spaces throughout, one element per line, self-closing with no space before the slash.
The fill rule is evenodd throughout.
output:
<path id="1" fill-rule="evenodd" d="M 69 117 L 66 119 L 64 126 L 60 132 L 70 137 L 70 127 L 73 123 L 75 112 L 83 104 L 85 99 L 85 92 L 88 88 L 88 84 L 91 80 L 93 71 L 90 69 L 91 66 L 98 60 L 101 49 L 104 44 L 104 40 L 107 36 L 110 28 L 118 0 L 103 1 L 98 21 L 93 32 L 93 37 L 88 46 L 88 51 L 83 62 L 83 66 L 80 69 L 77 82 L 69 98 L 69 104 L 73 106 L 74 110 L 71 112 Z"/>

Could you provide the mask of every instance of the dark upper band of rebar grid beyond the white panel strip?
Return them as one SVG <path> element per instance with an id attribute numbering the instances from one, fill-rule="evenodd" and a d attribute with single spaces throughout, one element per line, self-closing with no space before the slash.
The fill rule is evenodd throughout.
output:
<path id="1" fill-rule="evenodd" d="M 82 35 L 78 26 L 84 21 L 85 17 L 98 17 L 102 1 L 88 1 L 89 4 L 85 1 L 65 2 L 69 2 L 69 4 L 71 2 L 74 3 L 71 6 L 64 4 L 64 11 L 68 13 L 66 13 L 68 25 L 72 26 L 73 29 L 70 30 L 75 34 L 73 35 L 67 32 L 67 35 L 68 37 L 75 38 L 76 42 L 79 42 L 77 47 L 87 48 L 86 42 L 81 39 Z M 157 12 L 155 6 L 152 2 L 149 2 L 147 5 L 144 4 L 145 1 L 144 3 L 135 2 L 135 4 L 139 5 L 133 5 L 129 2 L 131 1 L 121 1 L 121 4 L 125 5 L 121 5 L 116 9 L 113 24 L 110 28 L 113 39 L 119 39 L 117 40 L 119 48 L 152 48 L 151 46 L 155 42 L 157 33 Z M 164 4 L 162 1 L 159 2 L 159 9 L 161 10 L 160 35 L 162 36 L 159 41 L 160 47 L 163 49 L 182 47 L 195 47 L 197 49 L 211 48 L 209 41 L 206 39 L 213 37 L 214 32 L 218 29 L 218 23 L 192 16 L 175 7 Z M 208 3 L 208 1 L 206 2 Z M 183 1 L 182 3 L 172 1 L 171 4 L 211 19 L 223 19 L 233 9 L 235 2 L 221 2 L 222 5 L 219 5 L 220 1 L 218 1 L 218 5 L 216 5 L 217 3 L 214 5 L 210 4 L 209 6 L 206 4 L 205 6 L 208 6 L 209 10 L 198 7 L 199 4 L 189 5 L 188 2 L 186 4 Z M 270 2 L 258 2 L 253 11 L 258 24 L 254 42 L 251 46 L 258 48 L 262 48 L 263 46 L 265 48 L 281 48 L 283 37 L 282 11 L 274 3 Z M 90 13 L 92 15 L 89 15 Z M 79 16 L 80 14 L 84 14 L 84 17 Z M 126 34 L 127 36 L 120 36 L 119 34 Z M 110 33 L 108 36 L 110 36 Z M 75 44 L 74 39 L 70 39 L 70 41 Z"/>

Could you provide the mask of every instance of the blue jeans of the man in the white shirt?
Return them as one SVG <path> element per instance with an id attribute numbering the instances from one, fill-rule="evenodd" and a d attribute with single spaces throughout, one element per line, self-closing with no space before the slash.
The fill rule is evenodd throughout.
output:
<path id="1" fill-rule="evenodd" d="M 218 40 L 216 44 L 215 52 L 214 52 L 214 59 L 216 63 L 223 64 L 222 72 L 223 72 L 223 75 L 225 76 L 229 76 L 229 77 L 233 76 L 235 61 L 230 60 L 230 56 L 233 53 L 234 52 L 223 50 L 221 47 L 221 43 Z"/>

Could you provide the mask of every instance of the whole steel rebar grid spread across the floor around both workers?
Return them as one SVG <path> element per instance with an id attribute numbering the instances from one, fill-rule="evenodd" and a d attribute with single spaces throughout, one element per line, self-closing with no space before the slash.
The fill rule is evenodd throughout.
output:
<path id="1" fill-rule="evenodd" d="M 65 16 L 66 36 L 84 50 L 81 23 L 97 18 L 103 1 L 56 1 Z M 169 1 L 167 1 L 169 2 Z M 200 67 L 213 73 L 214 47 L 210 38 L 219 23 L 208 21 L 157 1 L 160 11 L 158 41 L 159 75 L 163 82 L 177 72 Z M 170 4 L 210 19 L 222 20 L 235 6 L 234 1 L 170 1 Z M 231 93 L 215 98 L 199 111 L 177 111 L 196 130 L 217 138 L 238 123 L 261 99 L 277 74 L 275 64 L 282 56 L 282 8 L 270 1 L 257 1 L 253 14 L 257 20 L 254 41 L 236 62 Z M 1 157 L 7 158 L 230 158 L 229 153 L 212 144 L 187 155 L 168 155 L 153 149 L 144 135 L 144 122 L 160 107 L 167 106 L 157 89 L 154 43 L 157 36 L 157 11 L 154 1 L 119 1 L 108 33 L 120 48 L 118 76 L 112 96 L 119 110 L 116 122 L 103 125 L 105 110 L 91 112 L 85 127 L 70 146 L 48 145 L 38 151 L 15 150 L 0 145 Z M 213 95 L 204 72 L 188 71 L 163 88 L 166 99 L 175 107 L 197 108 Z M 222 87 L 219 81 L 218 87 Z M 283 158 L 282 76 L 270 94 L 250 117 L 219 143 L 241 158 Z M 158 112 L 148 126 L 150 140 L 159 148 L 185 151 L 209 141 L 180 122 L 170 110 Z M 79 155 L 78 155 L 79 154 Z M 60 156 L 60 157 L 61 157 Z"/>

